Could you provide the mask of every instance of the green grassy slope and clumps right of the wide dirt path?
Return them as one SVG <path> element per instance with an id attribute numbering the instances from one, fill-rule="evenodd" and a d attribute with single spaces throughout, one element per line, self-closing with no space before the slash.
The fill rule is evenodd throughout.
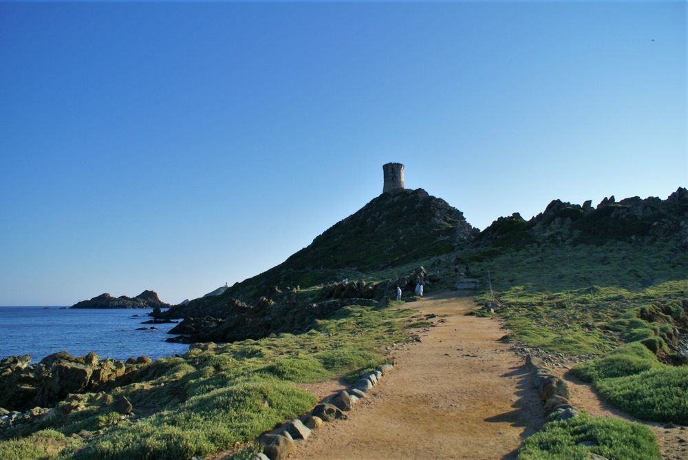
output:
<path id="1" fill-rule="evenodd" d="M 530 245 L 470 263 L 483 279 L 489 270 L 503 306 L 496 314 L 511 331 L 505 339 L 594 358 L 574 372 L 603 399 L 640 419 L 688 424 L 688 367 L 660 362 L 671 361 L 676 328 L 685 331 L 688 314 L 688 255 L 677 253 L 674 242 Z M 477 300 L 492 297 L 484 289 Z M 583 415 L 546 424 L 526 439 L 519 459 L 587 459 L 589 452 L 659 458 L 652 432 L 642 426 Z"/>

